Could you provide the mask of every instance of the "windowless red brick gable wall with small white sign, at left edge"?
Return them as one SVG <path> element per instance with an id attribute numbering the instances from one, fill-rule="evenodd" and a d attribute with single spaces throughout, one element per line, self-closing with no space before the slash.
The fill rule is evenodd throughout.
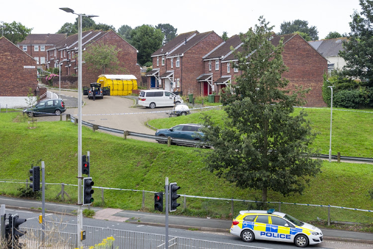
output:
<path id="1" fill-rule="evenodd" d="M 34 66 L 35 68 L 24 68 Z M 0 37 L 0 96 L 27 96 L 37 87 L 36 61 L 4 37 Z"/>

